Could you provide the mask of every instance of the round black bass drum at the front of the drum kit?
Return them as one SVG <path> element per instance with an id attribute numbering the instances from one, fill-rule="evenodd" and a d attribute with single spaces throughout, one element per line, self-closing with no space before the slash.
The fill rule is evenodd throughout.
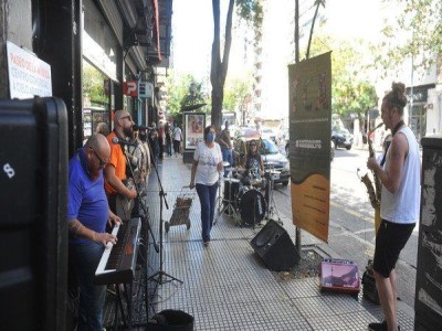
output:
<path id="1" fill-rule="evenodd" d="M 259 224 L 265 215 L 265 200 L 260 191 L 243 186 L 238 194 L 241 218 L 245 225 Z"/>

